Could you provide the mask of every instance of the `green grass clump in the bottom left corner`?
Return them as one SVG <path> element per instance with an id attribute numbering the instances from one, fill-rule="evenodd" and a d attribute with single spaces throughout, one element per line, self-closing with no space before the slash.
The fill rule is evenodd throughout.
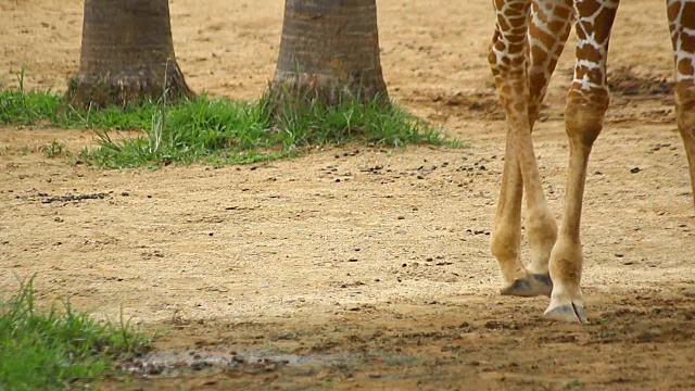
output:
<path id="1" fill-rule="evenodd" d="M 131 326 L 100 323 L 65 303 L 36 308 L 34 278 L 0 301 L 0 389 L 66 389 L 99 379 L 114 360 L 146 350 L 150 341 Z"/>

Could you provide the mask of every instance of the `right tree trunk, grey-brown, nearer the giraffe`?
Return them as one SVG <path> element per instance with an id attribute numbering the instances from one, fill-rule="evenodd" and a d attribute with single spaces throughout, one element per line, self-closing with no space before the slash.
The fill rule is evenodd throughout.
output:
<path id="1" fill-rule="evenodd" d="M 271 102 L 375 97 L 388 101 L 376 0 L 286 0 Z"/>

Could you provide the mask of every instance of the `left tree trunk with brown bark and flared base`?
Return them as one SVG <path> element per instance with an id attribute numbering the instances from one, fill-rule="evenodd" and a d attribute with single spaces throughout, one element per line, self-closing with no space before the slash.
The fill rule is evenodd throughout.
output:
<path id="1" fill-rule="evenodd" d="M 192 96 L 174 54 L 168 0 L 85 0 L 73 105 L 125 106 L 148 97 Z"/>

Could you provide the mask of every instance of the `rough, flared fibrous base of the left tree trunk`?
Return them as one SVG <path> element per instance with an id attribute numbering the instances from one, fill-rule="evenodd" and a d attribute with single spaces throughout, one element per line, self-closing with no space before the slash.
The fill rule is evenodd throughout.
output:
<path id="1" fill-rule="evenodd" d="M 169 62 L 166 71 L 162 70 L 159 75 L 146 70 L 106 75 L 79 72 L 70 79 L 64 99 L 76 108 L 105 108 L 112 104 L 126 108 L 147 99 L 166 97 L 167 101 L 176 101 L 193 96 L 181 70 L 176 62 Z"/>

